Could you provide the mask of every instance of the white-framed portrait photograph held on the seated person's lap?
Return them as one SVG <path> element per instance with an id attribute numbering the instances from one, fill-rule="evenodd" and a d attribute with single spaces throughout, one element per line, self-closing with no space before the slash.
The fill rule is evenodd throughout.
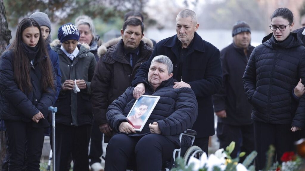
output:
<path id="1" fill-rule="evenodd" d="M 127 120 L 135 128 L 135 131 L 142 131 L 159 99 L 160 96 L 142 95 L 135 101 L 127 115 Z"/>

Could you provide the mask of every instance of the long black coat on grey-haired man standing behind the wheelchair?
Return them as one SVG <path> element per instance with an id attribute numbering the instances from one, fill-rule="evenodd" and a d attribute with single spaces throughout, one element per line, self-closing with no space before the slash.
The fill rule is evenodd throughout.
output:
<path id="1" fill-rule="evenodd" d="M 189 47 L 183 65 L 180 66 L 178 41 L 177 35 L 174 35 L 157 43 L 149 60 L 138 69 L 132 86 L 136 86 L 147 78 L 152 58 L 158 55 L 167 56 L 174 65 L 174 79 L 190 84 L 195 92 L 198 102 L 198 118 L 192 129 L 197 131 L 196 138 L 214 135 L 212 95 L 221 89 L 222 81 L 219 50 L 209 42 L 202 40 L 195 32 L 192 46 Z M 180 70 L 182 75 L 180 75 Z"/>

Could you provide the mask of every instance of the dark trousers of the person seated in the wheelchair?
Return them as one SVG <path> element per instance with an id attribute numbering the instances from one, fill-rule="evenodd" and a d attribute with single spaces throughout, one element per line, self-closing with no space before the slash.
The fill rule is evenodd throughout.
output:
<path id="1" fill-rule="evenodd" d="M 159 171 L 163 162 L 171 160 L 174 149 L 175 144 L 160 134 L 141 137 L 115 134 L 107 145 L 105 170 Z"/>

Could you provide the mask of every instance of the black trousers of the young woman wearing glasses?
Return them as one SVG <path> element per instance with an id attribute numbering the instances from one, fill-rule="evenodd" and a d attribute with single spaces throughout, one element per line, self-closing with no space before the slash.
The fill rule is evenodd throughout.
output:
<path id="1" fill-rule="evenodd" d="M 255 159 L 255 169 L 262 170 L 266 164 L 266 152 L 270 145 L 274 145 L 278 162 L 284 152 L 294 150 L 293 134 L 290 131 L 291 125 L 267 124 L 254 121 L 254 140 L 257 157 Z"/>

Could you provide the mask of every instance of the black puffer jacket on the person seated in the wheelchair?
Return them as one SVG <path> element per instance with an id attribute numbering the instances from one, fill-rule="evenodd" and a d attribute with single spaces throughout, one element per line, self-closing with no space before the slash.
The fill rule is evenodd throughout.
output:
<path id="1" fill-rule="evenodd" d="M 147 83 L 147 79 L 145 80 L 147 86 L 144 95 L 160 96 L 160 99 L 142 131 L 130 134 L 130 136 L 150 134 L 149 124 L 158 122 L 161 135 L 166 136 L 177 147 L 180 147 L 179 134 L 191 128 L 195 123 L 198 114 L 198 104 L 192 89 L 174 89 L 174 81 L 176 80 L 173 78 L 163 81 L 156 91 L 153 92 Z M 116 132 L 119 132 L 118 128 L 121 122 L 128 122 L 126 116 L 135 103 L 133 89 L 129 87 L 122 96 L 113 101 L 108 107 L 107 120 Z"/>

